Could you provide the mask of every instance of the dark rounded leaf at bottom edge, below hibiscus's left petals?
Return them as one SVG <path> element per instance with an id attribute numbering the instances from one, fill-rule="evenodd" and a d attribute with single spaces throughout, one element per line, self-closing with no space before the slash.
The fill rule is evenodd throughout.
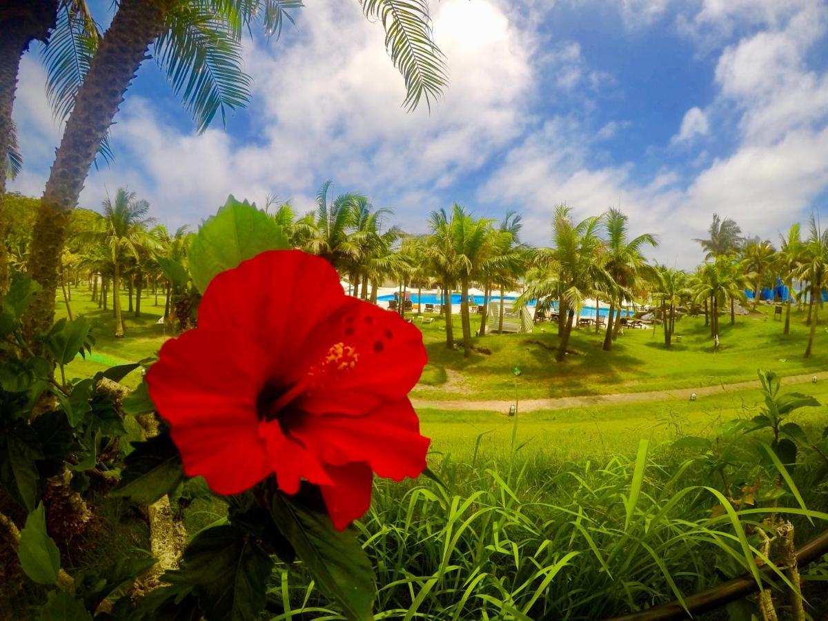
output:
<path id="1" fill-rule="evenodd" d="M 258 543 L 225 524 L 197 534 L 184 551 L 181 569 L 167 571 L 161 580 L 190 586 L 210 621 L 256 621 L 272 568 Z"/>

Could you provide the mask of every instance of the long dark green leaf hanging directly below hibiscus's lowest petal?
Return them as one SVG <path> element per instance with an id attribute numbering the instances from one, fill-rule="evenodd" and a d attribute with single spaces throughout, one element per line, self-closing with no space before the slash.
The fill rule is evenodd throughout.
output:
<path id="1" fill-rule="evenodd" d="M 327 513 L 297 497 L 275 493 L 271 514 L 316 584 L 349 619 L 372 619 L 377 597 L 373 568 L 353 528 L 337 531 Z"/>

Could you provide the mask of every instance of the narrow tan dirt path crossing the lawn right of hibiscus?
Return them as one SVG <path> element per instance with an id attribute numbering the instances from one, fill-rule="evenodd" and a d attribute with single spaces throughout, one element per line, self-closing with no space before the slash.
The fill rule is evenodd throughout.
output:
<path id="1" fill-rule="evenodd" d="M 802 375 L 790 375 L 782 378 L 782 388 L 791 384 L 811 382 L 816 375 L 819 379 L 828 379 L 828 371 L 821 373 L 802 373 Z M 703 386 L 700 388 L 674 388 L 672 390 L 653 390 L 650 392 L 616 392 L 608 395 L 582 395 L 579 397 L 558 397 L 556 399 L 524 399 L 520 402 L 521 412 L 535 412 L 537 410 L 563 410 L 570 407 L 603 406 L 613 403 L 635 403 L 643 401 L 665 401 L 667 399 L 686 400 L 692 392 L 696 396 L 705 397 L 720 392 L 733 392 L 749 388 L 759 389 L 758 379 L 749 382 L 737 382 L 732 384 L 719 384 L 718 386 Z M 412 404 L 417 409 L 426 407 L 438 410 L 488 410 L 491 412 L 508 412 L 513 401 L 475 401 L 467 399 L 464 401 L 430 401 L 428 399 L 412 399 Z"/>

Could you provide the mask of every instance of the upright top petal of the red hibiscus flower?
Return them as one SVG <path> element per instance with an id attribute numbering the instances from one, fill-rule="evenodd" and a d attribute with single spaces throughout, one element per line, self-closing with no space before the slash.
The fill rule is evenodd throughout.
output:
<path id="1" fill-rule="evenodd" d="M 272 250 L 221 272 L 199 305 L 199 327 L 236 329 L 272 352 L 271 375 L 301 373 L 308 337 L 345 301 L 330 263 L 299 250 Z"/>

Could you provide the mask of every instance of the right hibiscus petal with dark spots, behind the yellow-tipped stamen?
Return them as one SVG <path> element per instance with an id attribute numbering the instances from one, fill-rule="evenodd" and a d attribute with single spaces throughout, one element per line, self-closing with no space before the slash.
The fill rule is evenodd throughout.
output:
<path id="1" fill-rule="evenodd" d="M 363 414 L 407 397 L 428 362 L 420 330 L 397 313 L 354 298 L 320 325 L 320 332 L 326 342 L 351 348 L 356 363 L 310 388 L 300 404 L 306 412 Z"/>

